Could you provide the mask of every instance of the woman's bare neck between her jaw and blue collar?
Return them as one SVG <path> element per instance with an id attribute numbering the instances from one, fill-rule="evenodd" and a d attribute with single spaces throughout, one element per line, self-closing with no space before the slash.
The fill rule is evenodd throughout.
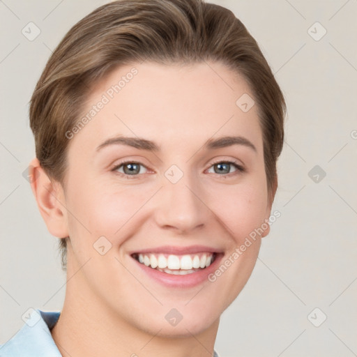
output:
<path id="1" fill-rule="evenodd" d="M 68 280 L 63 309 L 51 331 L 63 357 L 213 356 L 219 319 L 197 335 L 174 337 L 142 331 L 100 301 L 81 275 Z M 69 271 L 68 276 L 72 276 Z"/>

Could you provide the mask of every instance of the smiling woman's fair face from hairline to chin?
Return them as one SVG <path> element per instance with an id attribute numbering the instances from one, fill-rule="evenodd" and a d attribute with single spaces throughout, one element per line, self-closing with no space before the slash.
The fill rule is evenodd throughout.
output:
<path id="1" fill-rule="evenodd" d="M 95 114 L 68 134 L 63 194 L 68 275 L 78 271 L 67 289 L 85 304 L 188 335 L 234 301 L 271 210 L 257 105 L 236 104 L 244 93 L 253 98 L 220 63 L 144 62 L 96 85 L 83 116 Z"/>

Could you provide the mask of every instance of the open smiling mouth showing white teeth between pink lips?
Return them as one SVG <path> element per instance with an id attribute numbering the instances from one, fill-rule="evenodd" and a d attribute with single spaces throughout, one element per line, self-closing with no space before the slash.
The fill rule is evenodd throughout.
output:
<path id="1" fill-rule="evenodd" d="M 134 253 L 132 258 L 148 268 L 169 275 L 189 275 L 211 266 L 218 253 L 199 252 L 189 255 Z"/>

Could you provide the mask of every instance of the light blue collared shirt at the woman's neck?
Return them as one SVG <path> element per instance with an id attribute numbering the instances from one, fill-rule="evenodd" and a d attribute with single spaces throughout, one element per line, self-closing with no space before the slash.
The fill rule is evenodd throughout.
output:
<path id="1" fill-rule="evenodd" d="M 20 331 L 0 346 L 0 357 L 61 357 L 50 332 L 60 313 L 31 309 Z"/>

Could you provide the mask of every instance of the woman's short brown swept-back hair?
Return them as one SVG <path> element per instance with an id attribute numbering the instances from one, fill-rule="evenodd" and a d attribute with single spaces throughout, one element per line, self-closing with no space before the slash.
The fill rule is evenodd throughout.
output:
<path id="1" fill-rule="evenodd" d="M 284 97 L 245 26 L 227 8 L 203 0 L 119 0 L 77 22 L 50 56 L 31 98 L 36 157 L 63 185 L 69 139 L 89 90 L 124 64 L 224 63 L 243 75 L 259 109 L 268 192 L 277 180 L 284 141 Z M 238 99 L 238 98 L 237 98 Z M 66 238 L 61 238 L 66 270 Z"/>

